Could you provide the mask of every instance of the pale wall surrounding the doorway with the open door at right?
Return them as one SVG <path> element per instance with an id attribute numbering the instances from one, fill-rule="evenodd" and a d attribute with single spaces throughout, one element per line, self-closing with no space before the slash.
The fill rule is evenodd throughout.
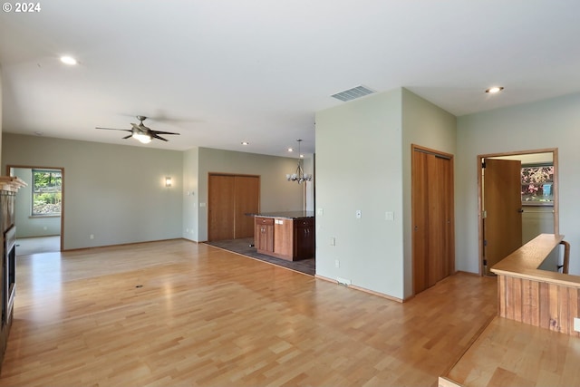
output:
<path id="1" fill-rule="evenodd" d="M 501 98 L 501 96 L 499 96 Z M 457 269 L 478 273 L 478 154 L 558 149 L 560 233 L 571 244 L 570 273 L 580 274 L 580 94 L 469 114 L 458 119 Z"/>

